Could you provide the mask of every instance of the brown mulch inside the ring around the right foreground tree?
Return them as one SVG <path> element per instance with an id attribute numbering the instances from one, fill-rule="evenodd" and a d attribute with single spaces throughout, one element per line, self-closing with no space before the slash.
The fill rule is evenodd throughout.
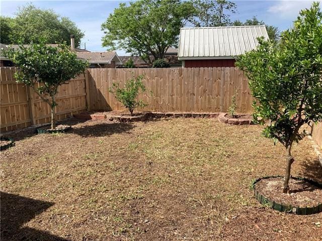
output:
<path id="1" fill-rule="evenodd" d="M 283 204 L 299 207 L 317 206 L 322 201 L 322 188 L 304 180 L 290 179 L 290 194 L 283 193 L 283 178 L 262 179 L 256 183 L 256 190 L 270 199 Z"/>

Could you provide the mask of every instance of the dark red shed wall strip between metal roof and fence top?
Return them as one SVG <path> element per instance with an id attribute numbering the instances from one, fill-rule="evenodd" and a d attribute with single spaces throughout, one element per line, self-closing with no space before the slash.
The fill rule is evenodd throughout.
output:
<path id="1" fill-rule="evenodd" d="M 186 68 L 195 67 L 235 67 L 235 59 L 194 59 L 185 60 Z"/>

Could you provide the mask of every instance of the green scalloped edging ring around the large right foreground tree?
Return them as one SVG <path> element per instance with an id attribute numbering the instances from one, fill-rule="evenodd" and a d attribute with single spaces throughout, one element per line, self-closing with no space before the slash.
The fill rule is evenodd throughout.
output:
<path id="1" fill-rule="evenodd" d="M 254 196 L 255 198 L 263 205 L 263 206 L 268 206 L 274 210 L 280 211 L 280 212 L 289 212 L 289 213 L 293 213 L 293 214 L 298 214 L 298 215 L 309 215 L 309 214 L 315 214 L 315 213 L 319 213 L 322 211 L 322 203 L 319 203 L 316 206 L 312 206 L 312 207 L 299 207 L 299 206 L 292 206 L 290 204 L 284 204 L 284 203 L 278 203 L 275 202 L 274 200 L 270 200 L 269 198 L 265 197 L 264 195 L 262 195 L 261 193 L 259 193 L 256 190 L 256 183 L 258 183 L 259 181 L 263 180 L 263 179 L 269 179 L 269 178 L 283 178 L 282 176 L 268 176 L 268 177 L 261 177 L 256 179 L 253 183 L 252 183 L 252 188 L 254 189 Z M 312 185 L 315 185 L 316 187 L 322 188 L 322 184 L 318 183 L 316 181 L 313 181 L 311 179 L 307 179 L 307 178 L 301 178 L 301 177 L 290 177 L 292 179 L 295 180 L 303 180 L 305 182 L 308 182 Z"/>

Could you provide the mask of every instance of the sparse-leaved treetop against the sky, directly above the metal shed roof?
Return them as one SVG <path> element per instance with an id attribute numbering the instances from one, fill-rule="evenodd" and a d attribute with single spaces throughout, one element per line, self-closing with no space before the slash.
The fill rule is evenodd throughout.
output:
<path id="1" fill-rule="evenodd" d="M 236 12 L 236 5 L 226 0 L 193 0 L 194 16 L 190 22 L 195 27 L 229 26 L 230 14 Z"/>

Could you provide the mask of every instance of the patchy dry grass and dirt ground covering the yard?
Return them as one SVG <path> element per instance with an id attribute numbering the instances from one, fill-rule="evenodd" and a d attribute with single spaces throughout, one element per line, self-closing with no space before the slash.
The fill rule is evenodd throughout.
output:
<path id="1" fill-rule="evenodd" d="M 265 209 L 249 186 L 283 175 L 261 126 L 216 118 L 69 122 L 1 152 L 1 240 L 321 240 L 322 213 Z M 292 175 L 322 181 L 311 144 Z"/>

